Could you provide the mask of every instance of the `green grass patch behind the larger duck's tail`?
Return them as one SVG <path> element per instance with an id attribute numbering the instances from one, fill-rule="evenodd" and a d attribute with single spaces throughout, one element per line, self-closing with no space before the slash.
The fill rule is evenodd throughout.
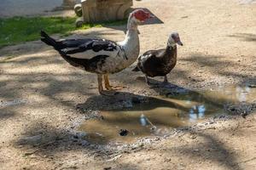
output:
<path id="1" fill-rule="evenodd" d="M 39 32 L 46 31 L 49 34 L 61 34 L 67 36 L 71 31 L 84 30 L 91 27 L 124 25 L 126 20 L 84 24 L 76 28 L 75 17 L 14 17 L 0 19 L 0 48 L 14 45 L 20 42 L 29 42 L 40 38 Z"/>

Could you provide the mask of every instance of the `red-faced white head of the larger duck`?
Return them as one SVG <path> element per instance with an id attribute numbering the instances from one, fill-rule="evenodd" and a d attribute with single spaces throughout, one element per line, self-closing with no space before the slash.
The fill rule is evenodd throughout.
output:
<path id="1" fill-rule="evenodd" d="M 154 18 L 154 16 L 142 8 L 136 9 L 131 12 L 129 19 L 128 19 L 128 29 L 137 27 L 137 25 L 142 24 L 145 20 L 150 18 Z"/>

